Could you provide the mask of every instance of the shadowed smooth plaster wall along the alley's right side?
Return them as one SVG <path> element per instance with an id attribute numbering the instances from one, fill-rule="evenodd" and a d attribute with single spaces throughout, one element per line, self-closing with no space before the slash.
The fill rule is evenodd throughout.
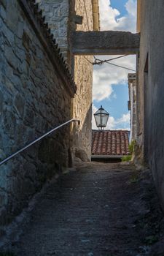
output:
<path id="1" fill-rule="evenodd" d="M 152 170 L 164 207 L 164 1 L 141 1 L 138 68 L 138 145 Z M 148 61 L 147 61 L 148 60 Z M 142 146 L 144 145 L 144 147 Z"/>

